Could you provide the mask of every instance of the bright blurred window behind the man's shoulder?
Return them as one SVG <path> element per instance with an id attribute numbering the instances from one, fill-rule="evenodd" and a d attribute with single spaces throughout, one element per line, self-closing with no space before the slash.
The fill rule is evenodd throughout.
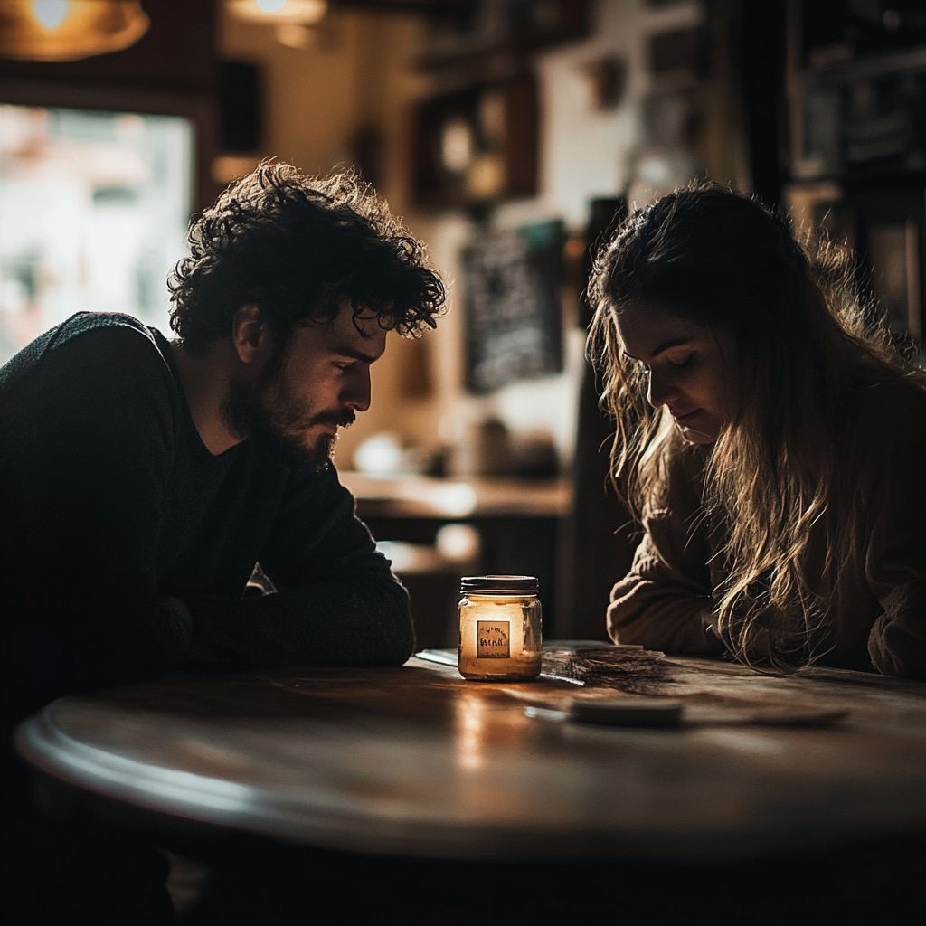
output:
<path id="1" fill-rule="evenodd" d="M 74 312 L 169 331 L 192 158 L 188 119 L 0 106 L 0 363 Z"/>

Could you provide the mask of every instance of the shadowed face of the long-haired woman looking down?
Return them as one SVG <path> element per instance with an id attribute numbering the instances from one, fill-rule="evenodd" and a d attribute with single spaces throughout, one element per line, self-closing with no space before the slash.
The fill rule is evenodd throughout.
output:
<path id="1" fill-rule="evenodd" d="M 732 336 L 648 302 L 622 308 L 617 324 L 624 355 L 646 368 L 650 405 L 667 407 L 686 441 L 713 444 L 734 399 Z"/>

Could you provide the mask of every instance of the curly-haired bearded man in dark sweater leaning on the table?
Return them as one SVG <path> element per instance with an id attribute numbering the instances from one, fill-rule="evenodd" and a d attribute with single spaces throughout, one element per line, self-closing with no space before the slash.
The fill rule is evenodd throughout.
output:
<path id="1" fill-rule="evenodd" d="M 422 245 L 352 177 L 273 163 L 190 244 L 177 340 L 81 313 L 0 371 L 6 729 L 181 667 L 411 653 L 405 589 L 330 457 L 386 332 L 443 306 Z M 276 594 L 244 594 L 256 563 Z"/>

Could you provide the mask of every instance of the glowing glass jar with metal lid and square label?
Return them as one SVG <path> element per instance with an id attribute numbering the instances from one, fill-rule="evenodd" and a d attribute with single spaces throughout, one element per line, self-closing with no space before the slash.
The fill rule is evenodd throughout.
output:
<path id="1" fill-rule="evenodd" d="M 460 594 L 460 675 L 483 682 L 535 679 L 544 649 L 537 580 L 464 576 Z"/>

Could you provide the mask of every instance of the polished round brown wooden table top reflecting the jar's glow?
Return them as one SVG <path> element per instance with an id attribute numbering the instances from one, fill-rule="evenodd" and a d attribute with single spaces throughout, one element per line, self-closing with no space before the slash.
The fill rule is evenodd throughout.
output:
<path id="1" fill-rule="evenodd" d="M 480 859 L 704 859 L 926 832 L 926 683 L 788 678 L 670 657 L 601 688 L 398 669 L 180 674 L 69 696 L 20 725 L 81 792 L 284 841 Z M 670 697 L 677 729 L 564 719 Z"/>

